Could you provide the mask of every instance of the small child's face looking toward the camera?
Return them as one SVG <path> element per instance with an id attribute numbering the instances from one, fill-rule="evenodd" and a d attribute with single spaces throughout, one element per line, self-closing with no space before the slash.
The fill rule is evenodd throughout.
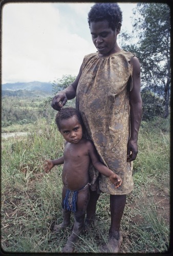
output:
<path id="1" fill-rule="evenodd" d="M 76 116 L 61 121 L 60 133 L 67 142 L 76 144 L 82 138 L 82 126 Z"/>

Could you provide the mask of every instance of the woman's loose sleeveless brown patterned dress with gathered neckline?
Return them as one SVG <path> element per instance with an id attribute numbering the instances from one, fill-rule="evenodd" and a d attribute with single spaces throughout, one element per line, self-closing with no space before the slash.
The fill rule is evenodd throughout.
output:
<path id="1" fill-rule="evenodd" d="M 132 162 L 127 162 L 130 135 L 129 91 L 133 88 L 133 54 L 121 50 L 110 56 L 86 55 L 76 91 L 87 138 L 92 139 L 100 160 L 122 179 L 117 189 L 109 178 L 90 168 L 91 189 L 126 195 L 133 189 Z"/>

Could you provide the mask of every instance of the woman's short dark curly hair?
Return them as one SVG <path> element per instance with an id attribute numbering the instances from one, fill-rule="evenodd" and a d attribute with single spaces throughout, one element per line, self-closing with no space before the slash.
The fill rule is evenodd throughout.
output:
<path id="1" fill-rule="evenodd" d="M 91 7 L 88 13 L 89 27 L 91 22 L 99 22 L 106 19 L 110 28 L 116 30 L 118 23 L 122 23 L 122 11 L 116 3 L 97 3 Z"/>

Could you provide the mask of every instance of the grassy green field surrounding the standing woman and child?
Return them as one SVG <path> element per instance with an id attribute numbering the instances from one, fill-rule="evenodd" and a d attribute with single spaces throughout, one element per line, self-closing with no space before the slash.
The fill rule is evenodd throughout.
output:
<path id="1" fill-rule="evenodd" d="M 13 253 L 60 252 L 71 232 L 73 215 L 69 228 L 52 232 L 62 221 L 62 166 L 54 167 L 50 174 L 42 166 L 45 159 L 63 152 L 64 141 L 54 119 L 39 116 L 33 123 L 11 124 L 3 131 L 29 134 L 2 139 L 1 247 Z M 127 196 L 121 222 L 121 253 L 164 253 L 169 249 L 169 133 L 169 119 L 142 121 L 134 190 Z M 99 253 L 109 226 L 109 196 L 101 194 L 96 223 L 81 234 L 75 251 Z"/>

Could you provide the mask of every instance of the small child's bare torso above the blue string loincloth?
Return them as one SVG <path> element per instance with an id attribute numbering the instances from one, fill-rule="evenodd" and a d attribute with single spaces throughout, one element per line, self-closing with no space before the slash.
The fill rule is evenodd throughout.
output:
<path id="1" fill-rule="evenodd" d="M 90 156 L 87 140 L 78 143 L 67 142 L 62 171 L 63 185 L 70 190 L 79 190 L 89 182 Z"/>

